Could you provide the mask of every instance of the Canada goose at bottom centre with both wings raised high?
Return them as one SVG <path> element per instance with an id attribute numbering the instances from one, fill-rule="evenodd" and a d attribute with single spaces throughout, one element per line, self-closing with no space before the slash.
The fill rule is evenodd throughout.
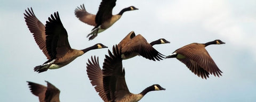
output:
<path id="1" fill-rule="evenodd" d="M 140 92 L 140 94 L 132 94 L 125 82 L 121 50 L 117 46 L 113 46 L 113 54 L 108 50 L 109 56 L 106 55 L 102 70 L 99 66 L 98 57 L 91 57 L 91 61 L 88 59 L 87 75 L 103 101 L 139 101 L 149 91 L 165 90 L 159 84 L 153 84 Z"/>

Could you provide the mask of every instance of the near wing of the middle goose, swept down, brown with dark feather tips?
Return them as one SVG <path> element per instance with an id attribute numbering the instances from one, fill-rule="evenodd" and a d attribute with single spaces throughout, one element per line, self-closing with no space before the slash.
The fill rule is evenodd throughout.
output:
<path id="1" fill-rule="evenodd" d="M 122 41 L 121 41 L 122 43 Z M 155 48 L 153 48 L 147 40 L 141 35 L 133 37 L 130 41 L 126 41 L 126 44 L 122 44 L 122 53 L 139 53 L 139 55 L 149 60 L 163 60 L 163 56 Z"/>

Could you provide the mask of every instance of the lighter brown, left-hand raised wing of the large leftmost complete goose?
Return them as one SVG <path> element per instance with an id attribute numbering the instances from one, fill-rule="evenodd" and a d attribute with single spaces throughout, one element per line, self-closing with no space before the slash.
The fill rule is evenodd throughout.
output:
<path id="1" fill-rule="evenodd" d="M 30 10 L 31 9 L 31 10 Z M 36 15 L 34 14 L 34 11 L 32 8 L 28 8 L 28 11 L 25 10 L 25 21 L 28 25 L 28 29 L 31 33 L 33 33 L 34 39 L 36 41 L 36 44 L 39 46 L 39 48 L 43 51 L 44 55 L 47 57 L 47 59 L 50 59 L 50 56 L 47 53 L 46 50 L 46 35 L 45 35 L 45 26 L 42 22 L 40 22 Z"/>

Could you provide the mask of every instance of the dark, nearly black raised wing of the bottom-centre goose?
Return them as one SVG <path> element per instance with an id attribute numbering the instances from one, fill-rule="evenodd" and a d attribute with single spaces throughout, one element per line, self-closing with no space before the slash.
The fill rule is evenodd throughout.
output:
<path id="1" fill-rule="evenodd" d="M 113 54 L 108 50 L 109 56 L 106 55 L 103 63 L 103 85 L 107 98 L 111 101 L 130 94 L 125 82 L 121 50 L 122 48 L 118 50 L 117 46 L 113 46 Z"/>

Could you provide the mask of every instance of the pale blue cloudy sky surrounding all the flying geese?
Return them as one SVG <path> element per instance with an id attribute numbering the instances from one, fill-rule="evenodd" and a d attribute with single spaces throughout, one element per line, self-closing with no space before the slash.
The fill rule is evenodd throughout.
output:
<path id="1" fill-rule="evenodd" d="M 138 94 L 158 83 L 165 91 L 149 92 L 141 101 L 256 101 L 256 1 L 117 1 L 113 14 L 135 6 L 137 11 L 125 12 L 111 28 L 92 41 L 86 38 L 93 28 L 79 21 L 74 10 L 84 4 L 90 13 L 97 13 L 101 1 L 1 1 L 0 3 L 0 101 L 38 101 L 26 81 L 46 85 L 51 82 L 61 90 L 61 101 L 102 101 L 86 74 L 86 62 L 99 56 L 102 66 L 107 49 L 91 50 L 69 65 L 43 73 L 34 67 L 46 61 L 27 28 L 23 13 L 33 7 L 45 24 L 59 11 L 72 48 L 83 49 L 96 43 L 109 48 L 118 44 L 127 33 L 135 31 L 148 42 L 165 38 L 171 44 L 154 46 L 164 55 L 190 43 L 206 43 L 221 39 L 225 45 L 207 46 L 222 77 L 197 77 L 177 59 L 153 62 L 143 57 L 124 60 L 128 88 Z"/>

